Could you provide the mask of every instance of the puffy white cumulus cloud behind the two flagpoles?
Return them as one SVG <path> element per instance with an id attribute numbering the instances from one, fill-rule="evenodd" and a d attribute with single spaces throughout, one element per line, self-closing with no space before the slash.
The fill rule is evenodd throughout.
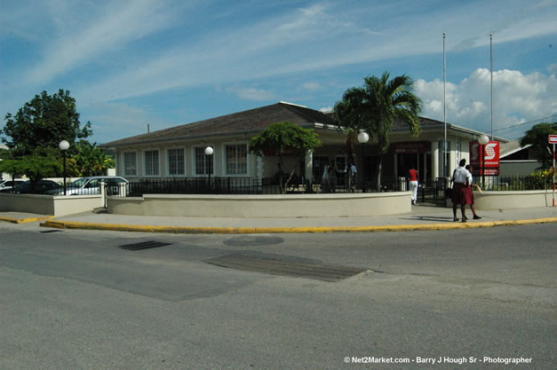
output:
<path id="1" fill-rule="evenodd" d="M 478 68 L 458 84 L 447 83 L 447 121 L 489 132 L 491 130 L 491 80 L 488 69 Z M 503 69 L 493 74 L 494 130 L 505 137 L 511 131 L 500 130 L 519 122 L 534 121 L 557 114 L 556 75 Z M 442 121 L 443 83 L 418 80 L 415 92 L 423 100 L 422 115 Z M 520 118 L 519 118 L 520 117 Z"/>

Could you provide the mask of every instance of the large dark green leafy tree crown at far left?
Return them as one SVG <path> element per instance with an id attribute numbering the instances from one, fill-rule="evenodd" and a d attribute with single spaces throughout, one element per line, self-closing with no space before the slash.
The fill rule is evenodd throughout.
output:
<path id="1" fill-rule="evenodd" d="M 91 134 L 91 122 L 81 127 L 76 99 L 70 97 L 69 91 L 63 90 L 53 95 L 43 91 L 21 107 L 17 114 L 6 114 L 4 129 L 0 130 L 0 135 L 7 137 L 2 141 L 15 158 L 58 148 L 61 140 L 72 144 L 77 138 L 87 138 Z"/>

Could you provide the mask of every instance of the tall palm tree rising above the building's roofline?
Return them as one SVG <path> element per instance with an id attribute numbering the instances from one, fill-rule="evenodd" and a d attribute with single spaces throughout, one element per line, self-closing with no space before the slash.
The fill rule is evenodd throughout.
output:
<path id="1" fill-rule="evenodd" d="M 412 92 L 413 80 L 399 75 L 389 80 L 385 72 L 380 78 L 364 78 L 362 87 L 346 90 L 335 105 L 339 125 L 367 131 L 378 143 L 377 191 L 381 189 L 383 154 L 389 149 L 389 135 L 395 120 L 408 123 L 413 137 L 419 133 L 421 100 Z"/>

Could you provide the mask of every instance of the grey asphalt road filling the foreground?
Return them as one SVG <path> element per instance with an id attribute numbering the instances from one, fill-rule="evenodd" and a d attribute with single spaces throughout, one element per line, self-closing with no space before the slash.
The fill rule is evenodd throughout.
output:
<path id="1" fill-rule="evenodd" d="M 0 368 L 553 369 L 556 237 L 0 224 Z M 147 240 L 169 244 L 120 248 Z M 328 282 L 204 262 L 230 254 L 366 271 Z"/>

